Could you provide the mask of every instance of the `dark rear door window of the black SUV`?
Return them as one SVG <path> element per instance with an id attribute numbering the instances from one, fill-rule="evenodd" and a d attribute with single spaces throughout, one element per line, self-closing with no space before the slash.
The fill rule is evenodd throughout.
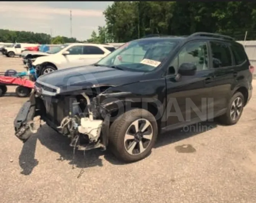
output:
<path id="1" fill-rule="evenodd" d="M 232 58 L 228 45 L 221 42 L 210 42 L 212 63 L 214 68 L 232 66 Z"/>

